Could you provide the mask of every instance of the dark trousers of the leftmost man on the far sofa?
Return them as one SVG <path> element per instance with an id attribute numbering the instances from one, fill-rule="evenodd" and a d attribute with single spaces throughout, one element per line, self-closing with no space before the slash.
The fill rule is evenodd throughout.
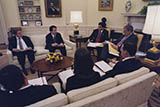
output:
<path id="1" fill-rule="evenodd" d="M 35 56 L 34 56 L 34 51 L 33 50 L 27 50 L 27 51 L 23 51 L 23 52 L 14 52 L 13 55 L 17 56 L 18 62 L 21 65 L 23 71 L 25 71 L 25 59 L 26 59 L 26 56 L 27 56 L 30 64 L 32 64 L 33 61 L 35 60 Z"/>

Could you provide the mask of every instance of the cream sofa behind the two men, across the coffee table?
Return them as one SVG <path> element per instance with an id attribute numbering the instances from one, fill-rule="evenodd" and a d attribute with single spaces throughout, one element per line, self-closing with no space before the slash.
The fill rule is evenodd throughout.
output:
<path id="1" fill-rule="evenodd" d="M 34 50 L 35 50 L 35 60 L 39 60 L 42 58 L 45 58 L 48 54 L 48 50 L 45 49 L 45 34 L 44 35 L 31 35 L 29 36 L 31 41 L 34 44 Z M 63 36 L 62 36 L 63 37 Z M 67 56 L 73 57 L 74 52 L 76 50 L 76 45 L 69 40 L 64 39 L 66 50 L 67 50 Z M 10 50 L 7 50 L 8 58 L 9 58 L 9 64 L 15 64 L 19 65 L 17 57 L 12 56 L 12 53 Z M 26 58 L 27 59 L 27 58 Z M 26 66 L 29 66 L 29 62 L 26 62 Z"/>

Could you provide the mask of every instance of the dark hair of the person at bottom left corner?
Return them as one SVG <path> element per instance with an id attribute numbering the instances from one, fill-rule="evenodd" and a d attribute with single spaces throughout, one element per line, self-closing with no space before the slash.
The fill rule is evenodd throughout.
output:
<path id="1" fill-rule="evenodd" d="M 8 91 L 16 91 L 25 83 L 24 75 L 19 67 L 7 65 L 0 70 L 0 84 Z"/>

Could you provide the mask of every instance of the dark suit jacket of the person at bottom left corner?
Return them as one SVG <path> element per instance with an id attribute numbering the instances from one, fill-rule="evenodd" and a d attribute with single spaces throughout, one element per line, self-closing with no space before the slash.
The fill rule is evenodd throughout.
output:
<path id="1" fill-rule="evenodd" d="M 0 90 L 0 105 L 2 107 L 23 107 L 36 103 L 57 94 L 51 85 L 29 86 L 13 93 Z"/>

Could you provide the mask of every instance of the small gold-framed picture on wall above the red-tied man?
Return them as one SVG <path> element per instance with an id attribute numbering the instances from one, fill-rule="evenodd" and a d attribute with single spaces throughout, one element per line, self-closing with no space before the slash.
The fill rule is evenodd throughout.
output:
<path id="1" fill-rule="evenodd" d="M 113 0 L 99 0 L 98 1 L 99 11 L 112 11 L 113 10 Z"/>

